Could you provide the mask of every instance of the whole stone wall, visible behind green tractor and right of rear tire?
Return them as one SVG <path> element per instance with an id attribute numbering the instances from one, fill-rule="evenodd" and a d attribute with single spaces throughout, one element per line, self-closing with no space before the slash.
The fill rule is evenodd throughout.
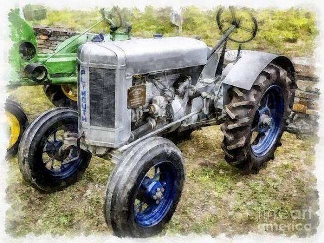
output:
<path id="1" fill-rule="evenodd" d="M 52 52 L 56 45 L 78 34 L 64 28 L 35 27 L 38 48 L 41 53 Z M 293 58 L 297 71 L 297 86 L 293 114 L 288 120 L 288 131 L 295 134 L 314 135 L 318 130 L 319 89 L 315 63 L 308 58 Z"/>

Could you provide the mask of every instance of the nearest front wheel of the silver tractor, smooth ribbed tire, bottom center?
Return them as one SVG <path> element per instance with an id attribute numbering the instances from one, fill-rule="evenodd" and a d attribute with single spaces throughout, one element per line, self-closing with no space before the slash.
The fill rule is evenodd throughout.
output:
<path id="1" fill-rule="evenodd" d="M 119 237 L 162 231 L 180 200 L 184 166 L 180 150 L 162 137 L 148 138 L 118 158 L 107 183 L 104 214 Z"/>

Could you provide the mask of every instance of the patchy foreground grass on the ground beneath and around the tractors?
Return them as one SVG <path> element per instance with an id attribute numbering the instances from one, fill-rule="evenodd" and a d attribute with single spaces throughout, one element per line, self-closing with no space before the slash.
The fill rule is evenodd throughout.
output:
<path id="1" fill-rule="evenodd" d="M 52 107 L 42 92 L 40 86 L 21 87 L 10 95 L 32 120 Z M 284 133 L 275 160 L 257 175 L 243 176 L 224 161 L 222 139 L 219 126 L 212 126 L 193 132 L 190 140 L 178 144 L 186 161 L 185 186 L 177 210 L 161 234 L 315 234 L 319 224 L 313 175 L 317 140 L 299 140 Z M 102 212 L 105 186 L 114 168 L 109 161 L 93 157 L 79 182 L 53 194 L 39 193 L 23 181 L 16 157 L 8 160 L 8 168 L 8 234 L 112 234 Z M 291 214 L 309 207 L 312 214 L 306 217 Z M 264 223 L 283 224 L 285 229 L 264 228 Z M 311 230 L 294 228 L 298 224 L 311 224 Z"/>

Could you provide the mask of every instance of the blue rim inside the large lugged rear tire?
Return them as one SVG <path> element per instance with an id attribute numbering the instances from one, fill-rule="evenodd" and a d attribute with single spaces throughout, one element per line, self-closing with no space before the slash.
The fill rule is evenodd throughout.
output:
<path id="1" fill-rule="evenodd" d="M 266 155 L 274 146 L 281 130 L 283 114 L 282 89 L 278 85 L 272 85 L 261 97 L 252 123 L 250 144 L 255 156 Z M 252 137 L 252 134 L 256 135 Z"/>

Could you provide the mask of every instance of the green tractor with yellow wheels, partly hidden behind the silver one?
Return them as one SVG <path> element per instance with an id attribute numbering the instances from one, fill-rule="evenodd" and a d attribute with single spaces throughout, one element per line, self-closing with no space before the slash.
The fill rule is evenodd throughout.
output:
<path id="1" fill-rule="evenodd" d="M 8 88 L 42 85 L 45 95 L 56 107 L 77 108 L 76 52 L 88 41 L 114 41 L 131 38 L 131 25 L 122 20 L 120 11 L 100 9 L 102 19 L 79 35 L 70 37 L 57 45 L 53 53 L 42 54 L 37 50 L 36 36 L 32 27 L 20 17 L 19 9 L 9 13 L 10 38 L 13 42 L 9 52 L 12 66 Z M 93 34 L 89 31 L 101 22 L 110 27 L 108 34 Z M 7 155 L 17 152 L 20 138 L 28 125 L 23 109 L 14 101 L 5 104 L 7 123 L 10 127 Z"/>

